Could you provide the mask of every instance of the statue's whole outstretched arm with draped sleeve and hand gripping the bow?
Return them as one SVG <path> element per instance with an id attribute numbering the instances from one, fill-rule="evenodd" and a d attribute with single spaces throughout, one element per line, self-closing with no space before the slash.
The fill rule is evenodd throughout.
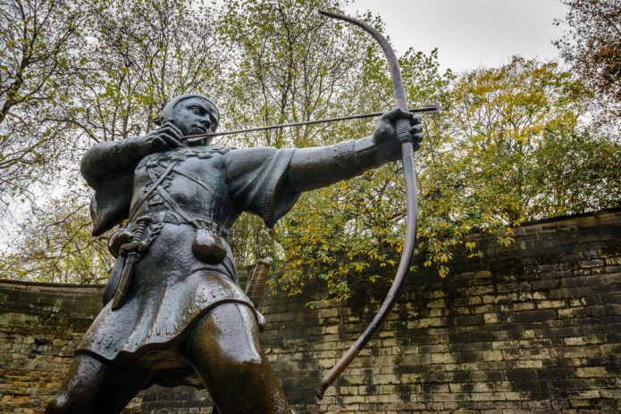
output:
<path id="1" fill-rule="evenodd" d="M 371 137 L 311 148 L 233 150 L 226 154 L 224 163 L 231 199 L 240 211 L 251 211 L 273 227 L 301 192 L 330 186 L 397 160 L 400 148 L 394 124 L 404 118 L 410 120 L 410 138 L 417 147 L 422 138 L 420 119 L 410 112 L 394 110 L 382 115 Z"/>

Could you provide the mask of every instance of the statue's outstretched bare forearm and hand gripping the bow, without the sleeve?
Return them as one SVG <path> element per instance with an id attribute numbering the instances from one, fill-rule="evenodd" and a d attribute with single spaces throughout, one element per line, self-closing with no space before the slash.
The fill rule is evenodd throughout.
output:
<path id="1" fill-rule="evenodd" d="M 302 192 L 330 186 L 340 180 L 355 177 L 400 155 L 394 122 L 409 119 L 410 135 L 417 148 L 422 139 L 420 118 L 400 109 L 386 112 L 378 121 L 373 135 L 349 140 L 337 145 L 298 148 L 291 157 L 289 181 L 296 191 Z"/>

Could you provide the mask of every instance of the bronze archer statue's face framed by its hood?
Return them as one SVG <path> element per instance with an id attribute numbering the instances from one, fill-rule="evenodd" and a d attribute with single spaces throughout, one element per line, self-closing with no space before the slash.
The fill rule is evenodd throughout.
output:
<path id="1" fill-rule="evenodd" d="M 172 121 L 184 136 L 214 132 L 218 128 L 218 114 L 205 99 L 184 99 L 173 113 Z"/>

